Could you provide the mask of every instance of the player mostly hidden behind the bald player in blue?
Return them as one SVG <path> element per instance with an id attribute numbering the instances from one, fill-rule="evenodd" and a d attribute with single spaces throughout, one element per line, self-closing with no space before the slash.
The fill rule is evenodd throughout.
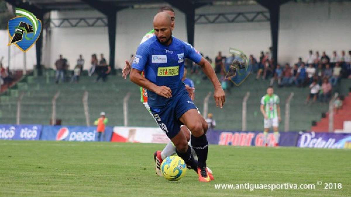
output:
<path id="1" fill-rule="evenodd" d="M 160 13 L 160 12 L 166 12 L 168 15 L 171 16 L 172 24 L 173 24 L 173 27 L 174 27 L 175 20 L 176 20 L 174 10 L 170 6 L 163 6 L 163 7 L 161 7 L 158 10 L 158 13 Z M 148 33 L 145 34 L 145 36 L 141 39 L 140 44 L 144 43 L 145 41 L 147 41 L 149 38 L 153 37 L 154 35 L 155 35 L 155 30 L 152 29 L 151 31 L 149 31 Z M 125 66 L 124 66 L 124 68 L 122 70 L 122 77 L 124 77 L 124 79 L 126 79 L 128 74 L 130 73 L 130 71 L 131 71 L 131 63 L 133 61 L 134 61 L 134 56 L 131 57 L 130 61 L 125 61 L 126 64 L 125 64 Z M 141 72 L 141 75 L 144 76 L 144 72 Z M 190 83 L 189 80 L 186 80 L 185 83 L 188 83 L 188 82 Z M 194 88 L 190 87 L 190 85 L 189 86 L 185 86 L 185 87 L 186 87 L 186 89 L 187 89 L 187 91 L 189 93 L 190 98 L 194 99 Z M 145 88 L 143 88 L 143 87 L 140 87 L 140 93 L 141 93 L 141 99 L 140 99 L 141 103 L 144 104 L 145 108 L 147 109 L 147 111 L 151 114 L 152 118 L 154 119 L 154 117 L 153 117 L 153 115 L 151 113 L 150 107 L 147 104 L 147 90 Z M 189 145 L 191 146 L 191 142 L 190 142 L 191 132 L 189 131 L 189 129 L 185 125 L 181 126 L 180 129 L 181 129 L 181 131 L 183 131 L 186 139 L 189 142 Z M 162 161 L 166 157 L 171 156 L 171 155 L 173 155 L 175 153 L 176 153 L 176 147 L 173 145 L 172 141 L 169 141 L 167 143 L 166 147 L 162 151 L 157 150 L 154 153 L 155 170 L 156 170 L 156 174 L 158 176 L 163 176 L 162 172 L 161 172 L 161 163 L 162 163 Z M 193 151 L 193 153 L 195 153 L 195 152 Z M 196 158 L 197 155 L 194 154 L 194 157 Z"/>

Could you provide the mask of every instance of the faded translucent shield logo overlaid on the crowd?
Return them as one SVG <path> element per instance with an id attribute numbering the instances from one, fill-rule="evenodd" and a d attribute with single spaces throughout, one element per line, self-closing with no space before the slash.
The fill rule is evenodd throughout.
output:
<path id="1" fill-rule="evenodd" d="M 252 65 L 249 65 L 249 58 L 244 52 L 230 48 L 231 57 L 227 57 L 226 63 L 223 64 L 224 80 L 230 80 L 239 86 L 249 77 L 252 71 Z"/>

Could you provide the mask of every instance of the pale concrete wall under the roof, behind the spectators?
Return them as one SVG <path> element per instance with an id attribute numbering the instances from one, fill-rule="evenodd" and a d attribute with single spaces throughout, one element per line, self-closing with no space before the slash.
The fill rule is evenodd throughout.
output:
<path id="1" fill-rule="evenodd" d="M 197 13 L 263 11 L 259 5 L 206 6 Z M 351 50 L 351 2 L 342 3 L 286 3 L 280 9 L 279 51 L 280 63 L 294 63 L 298 57 L 305 58 L 310 49 L 326 51 Z M 121 67 L 124 60 L 134 54 L 141 37 L 151 30 L 156 9 L 125 9 L 117 15 L 115 64 Z M 97 11 L 51 12 L 52 18 L 95 17 L 104 15 Z M 45 33 L 43 33 L 45 36 Z M 53 67 L 59 54 L 68 59 L 71 68 L 79 54 L 86 59 L 85 69 L 90 67 L 91 54 L 109 57 L 107 27 L 100 28 L 52 28 L 51 37 L 44 38 L 43 63 Z M 176 27 L 173 35 L 186 39 L 185 16 L 176 10 Z M 1 43 L 4 41 L 1 41 Z M 7 42 L 7 41 L 6 41 Z M 4 42 L 5 43 L 5 42 Z M 194 46 L 205 56 L 214 58 L 218 51 L 229 55 L 229 48 L 241 49 L 256 58 L 259 52 L 267 51 L 271 45 L 269 22 L 198 24 L 195 27 Z M 12 50 L 12 48 L 11 48 Z M 14 49 L 15 50 L 15 49 Z M 1 44 L 0 51 L 7 54 L 7 46 Z M 35 60 L 35 49 L 28 51 L 27 58 Z M 33 56 L 33 57 L 32 57 Z M 20 59 L 20 58 L 16 58 Z M 16 60 L 17 61 L 17 60 Z M 21 62 L 13 66 L 21 67 Z M 30 64 L 31 60 L 27 61 Z M 33 61 L 33 64 L 35 61 Z M 28 65 L 30 68 L 30 66 Z"/>

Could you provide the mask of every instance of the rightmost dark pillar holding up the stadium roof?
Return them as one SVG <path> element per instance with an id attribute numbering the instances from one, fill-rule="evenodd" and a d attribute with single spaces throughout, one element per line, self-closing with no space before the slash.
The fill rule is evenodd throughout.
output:
<path id="1" fill-rule="evenodd" d="M 272 57 L 278 63 L 278 32 L 279 32 L 279 9 L 280 5 L 289 0 L 256 0 L 260 5 L 267 8 L 270 14 L 270 26 L 272 37 Z"/>

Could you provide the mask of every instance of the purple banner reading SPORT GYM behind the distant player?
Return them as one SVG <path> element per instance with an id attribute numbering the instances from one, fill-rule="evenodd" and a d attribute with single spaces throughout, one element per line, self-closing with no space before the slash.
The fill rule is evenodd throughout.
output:
<path id="1" fill-rule="evenodd" d="M 264 146 L 263 132 L 238 131 L 207 131 L 207 140 L 210 144 L 230 146 Z M 296 146 L 298 132 L 280 132 L 279 146 Z M 275 146 L 277 140 L 273 133 L 267 137 L 268 146 Z"/>

